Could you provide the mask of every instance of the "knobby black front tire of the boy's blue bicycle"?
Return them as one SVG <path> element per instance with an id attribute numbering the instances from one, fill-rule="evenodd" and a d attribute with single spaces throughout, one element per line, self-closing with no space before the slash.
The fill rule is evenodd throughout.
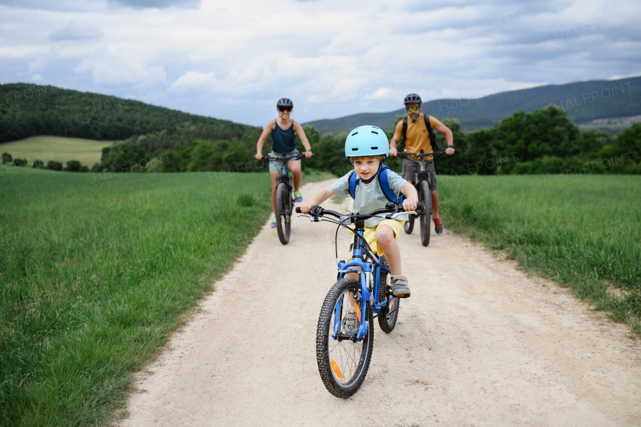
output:
<path id="1" fill-rule="evenodd" d="M 342 381 L 344 372 L 347 373 L 346 369 L 340 369 L 344 367 L 344 363 L 341 360 L 336 362 L 335 358 L 336 351 L 335 349 L 342 344 L 338 340 L 332 338 L 333 333 L 333 321 L 336 313 L 337 303 L 341 297 L 345 296 L 345 292 L 353 292 L 354 294 L 360 295 L 360 285 L 357 280 L 344 278 L 337 281 L 333 287 L 329 290 L 325 301 L 322 304 L 320 309 L 319 322 L 316 330 L 316 360 L 319 366 L 319 373 L 322 382 L 325 385 L 325 388 L 337 398 L 347 399 L 349 396 L 352 396 L 365 380 L 367 375 L 367 370 L 369 369 L 370 361 L 372 360 L 372 348 L 374 346 L 374 318 L 372 316 L 372 310 L 369 306 L 369 301 L 365 303 L 365 319 L 367 319 L 367 335 L 363 339 L 358 341 L 353 340 L 343 340 L 347 346 L 351 348 L 358 349 L 360 347 L 362 351 L 360 355 L 356 355 L 347 351 L 346 354 L 353 353 L 351 362 L 355 364 L 354 373 L 350 376 L 349 379 Z M 342 311 L 338 312 L 339 315 L 339 324 L 342 324 L 342 318 L 340 317 Z M 340 329 L 342 330 L 342 329 Z M 334 347 L 330 348 L 330 344 Z M 338 348 L 340 351 L 340 348 Z M 354 356 L 358 356 L 358 360 L 355 360 Z M 334 358 L 333 358 L 334 357 Z M 345 358 L 345 362 L 349 363 L 349 360 Z M 338 365 L 341 364 L 342 366 Z M 339 378 L 340 375 L 340 378 Z M 338 378 L 338 380 L 337 380 Z M 340 383 L 345 382 L 345 383 Z"/>

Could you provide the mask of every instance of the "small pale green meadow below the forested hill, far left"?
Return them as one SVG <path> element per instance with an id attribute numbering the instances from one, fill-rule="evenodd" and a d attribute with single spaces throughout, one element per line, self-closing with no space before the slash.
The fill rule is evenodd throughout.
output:
<path id="1" fill-rule="evenodd" d="M 78 160 L 82 165 L 91 168 L 94 163 L 100 162 L 103 147 L 111 144 L 111 141 L 41 136 L 4 142 L 0 144 L 0 153 L 9 153 L 13 158 L 39 158 L 45 164 L 49 160 L 61 162 L 63 165 L 69 160 Z"/>

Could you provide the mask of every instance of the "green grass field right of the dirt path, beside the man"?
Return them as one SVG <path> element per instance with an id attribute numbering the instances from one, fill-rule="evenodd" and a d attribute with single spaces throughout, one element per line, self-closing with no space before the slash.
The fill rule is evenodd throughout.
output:
<path id="1" fill-rule="evenodd" d="M 641 176 L 442 177 L 438 193 L 448 228 L 641 333 Z"/>

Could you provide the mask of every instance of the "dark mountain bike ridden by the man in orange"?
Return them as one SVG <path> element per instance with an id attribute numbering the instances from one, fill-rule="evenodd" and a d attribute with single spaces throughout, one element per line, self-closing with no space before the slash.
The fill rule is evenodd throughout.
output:
<path id="1" fill-rule="evenodd" d="M 414 220 L 419 219 L 420 226 L 420 242 L 423 246 L 429 245 L 429 231 L 430 231 L 430 221 L 432 217 L 432 178 L 427 171 L 427 161 L 425 158 L 427 156 L 435 157 L 447 157 L 445 151 L 434 151 L 433 153 L 423 153 L 423 150 L 420 150 L 420 153 L 398 153 L 399 158 L 411 158 L 410 155 L 416 156 L 419 158 L 419 172 L 414 174 L 414 179 L 412 180 L 413 186 L 416 188 L 416 192 L 419 194 L 419 202 L 425 204 L 425 209 L 419 212 L 417 215 L 410 215 L 409 221 L 406 221 L 403 224 L 403 230 L 406 233 L 412 234 L 414 229 Z M 415 160 L 412 158 L 412 160 Z"/>

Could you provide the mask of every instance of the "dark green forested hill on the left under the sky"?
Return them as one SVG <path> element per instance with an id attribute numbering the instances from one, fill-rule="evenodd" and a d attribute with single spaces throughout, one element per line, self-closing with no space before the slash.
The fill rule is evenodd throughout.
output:
<path id="1" fill-rule="evenodd" d="M 131 99 L 28 83 L 0 85 L 0 142 L 35 135 L 124 140 L 131 135 L 194 128 L 206 129 L 216 139 L 241 138 L 254 130 L 253 126 Z"/>

